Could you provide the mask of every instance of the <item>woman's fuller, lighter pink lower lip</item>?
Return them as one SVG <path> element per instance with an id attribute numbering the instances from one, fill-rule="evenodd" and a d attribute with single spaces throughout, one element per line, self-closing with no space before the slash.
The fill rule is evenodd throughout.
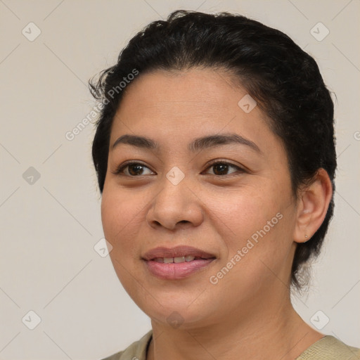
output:
<path id="1" fill-rule="evenodd" d="M 146 265 L 150 274 L 158 278 L 166 280 L 177 280 L 181 278 L 187 278 L 196 271 L 205 269 L 209 266 L 214 259 L 198 259 L 192 262 L 179 262 L 165 264 L 163 262 L 154 262 L 153 260 L 146 261 Z"/>

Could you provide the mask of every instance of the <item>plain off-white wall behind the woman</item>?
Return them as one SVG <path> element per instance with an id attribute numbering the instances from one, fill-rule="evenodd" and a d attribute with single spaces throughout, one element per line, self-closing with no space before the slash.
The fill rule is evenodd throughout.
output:
<path id="1" fill-rule="evenodd" d="M 294 304 L 312 326 L 360 347 L 359 0 L 0 0 L 0 359 L 101 359 L 150 329 L 96 245 L 94 129 L 65 134 L 94 106 L 87 80 L 177 8 L 242 13 L 282 30 L 335 91 L 335 219 L 311 288 Z"/>

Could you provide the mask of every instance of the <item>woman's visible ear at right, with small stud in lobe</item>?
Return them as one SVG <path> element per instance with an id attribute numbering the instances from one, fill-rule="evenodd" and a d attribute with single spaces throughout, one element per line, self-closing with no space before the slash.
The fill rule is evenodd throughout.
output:
<path id="1" fill-rule="evenodd" d="M 296 243 L 305 243 L 316 233 L 326 217 L 332 196 L 328 173 L 319 169 L 311 184 L 300 191 L 293 236 Z"/>

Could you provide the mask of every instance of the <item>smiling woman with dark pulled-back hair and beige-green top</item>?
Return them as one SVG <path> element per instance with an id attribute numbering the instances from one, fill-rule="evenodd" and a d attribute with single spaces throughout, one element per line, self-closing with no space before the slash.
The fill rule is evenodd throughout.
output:
<path id="1" fill-rule="evenodd" d="M 115 359 L 359 359 L 290 302 L 333 215 L 333 102 L 288 36 L 175 11 L 91 91 L 110 257 L 152 328 Z"/>

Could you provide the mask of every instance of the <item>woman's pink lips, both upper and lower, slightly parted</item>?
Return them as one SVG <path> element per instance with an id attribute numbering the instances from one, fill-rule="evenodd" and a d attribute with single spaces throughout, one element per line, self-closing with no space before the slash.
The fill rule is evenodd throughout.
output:
<path id="1" fill-rule="evenodd" d="M 210 266 L 214 259 L 215 255 L 188 246 L 155 248 L 143 255 L 150 274 L 166 280 L 186 278 Z"/>

